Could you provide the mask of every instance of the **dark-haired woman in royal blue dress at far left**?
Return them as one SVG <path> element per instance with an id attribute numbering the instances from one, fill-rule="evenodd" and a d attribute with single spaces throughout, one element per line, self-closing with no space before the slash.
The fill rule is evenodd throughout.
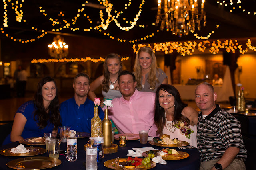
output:
<path id="1" fill-rule="evenodd" d="M 60 120 L 56 82 L 52 77 L 42 78 L 33 100 L 22 104 L 16 112 L 4 145 L 29 137 L 43 137 L 48 132 L 57 133 Z"/>

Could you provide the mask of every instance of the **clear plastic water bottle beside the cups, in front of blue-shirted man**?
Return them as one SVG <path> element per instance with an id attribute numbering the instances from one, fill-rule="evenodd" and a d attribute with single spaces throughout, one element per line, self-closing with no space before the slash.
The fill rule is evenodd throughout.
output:
<path id="1" fill-rule="evenodd" d="M 67 140 L 67 160 L 74 162 L 77 158 L 77 139 L 76 139 L 76 131 L 70 130 Z"/>

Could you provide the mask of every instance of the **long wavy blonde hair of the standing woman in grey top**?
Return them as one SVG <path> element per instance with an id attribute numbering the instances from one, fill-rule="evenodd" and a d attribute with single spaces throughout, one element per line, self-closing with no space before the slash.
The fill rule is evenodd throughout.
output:
<path id="1" fill-rule="evenodd" d="M 150 89 L 154 90 L 156 88 L 156 83 L 159 83 L 158 78 L 156 77 L 156 72 L 159 74 L 158 68 L 156 68 L 156 56 L 154 51 L 146 46 L 146 47 L 140 47 L 138 53 L 136 54 L 135 64 L 134 64 L 134 75 L 136 78 L 137 86 L 136 88 L 140 91 L 142 89 L 142 85 L 140 83 L 141 80 L 141 66 L 139 63 L 139 56 L 141 52 L 146 52 L 152 57 L 152 63 L 150 65 L 150 72 L 148 73 L 147 81 L 150 84 Z"/>

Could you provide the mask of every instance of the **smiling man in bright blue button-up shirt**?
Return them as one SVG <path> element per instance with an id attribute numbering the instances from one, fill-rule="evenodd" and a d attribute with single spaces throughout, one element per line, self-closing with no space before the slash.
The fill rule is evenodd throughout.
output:
<path id="1" fill-rule="evenodd" d="M 73 81 L 75 95 L 60 104 L 62 126 L 70 126 L 77 132 L 91 133 L 91 119 L 94 116 L 94 102 L 87 98 L 90 90 L 90 78 L 86 73 L 79 73 Z M 104 112 L 99 107 L 99 117 L 104 119 Z"/>

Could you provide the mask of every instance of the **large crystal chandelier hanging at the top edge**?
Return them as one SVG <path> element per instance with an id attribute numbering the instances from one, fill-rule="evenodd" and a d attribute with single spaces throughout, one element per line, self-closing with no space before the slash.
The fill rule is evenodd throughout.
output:
<path id="1" fill-rule="evenodd" d="M 158 11 L 156 15 L 156 26 L 160 23 L 160 29 L 171 31 L 173 35 L 188 35 L 189 31 L 194 32 L 201 29 L 200 21 L 206 25 L 204 12 L 204 0 L 201 0 L 201 7 L 198 7 L 198 0 L 158 0 Z M 162 5 L 161 5 L 162 4 Z M 163 11 L 163 13 L 162 13 Z M 201 11 L 201 12 L 200 12 Z"/>

